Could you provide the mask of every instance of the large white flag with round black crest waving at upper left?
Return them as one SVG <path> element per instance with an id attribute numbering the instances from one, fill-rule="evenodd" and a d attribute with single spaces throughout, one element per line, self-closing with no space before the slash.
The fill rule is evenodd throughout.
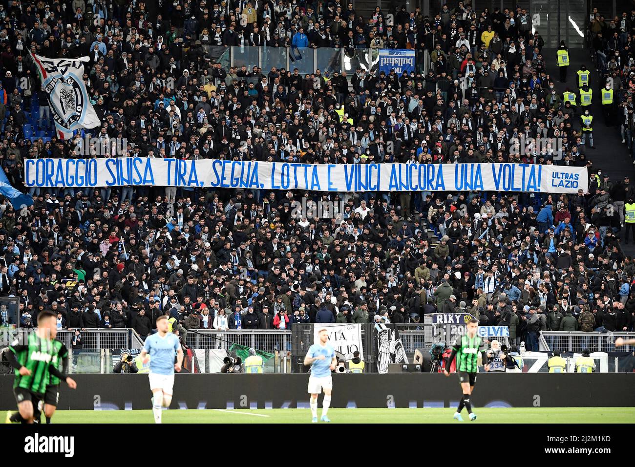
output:
<path id="1" fill-rule="evenodd" d="M 36 64 L 42 89 L 48 94 L 57 137 L 70 139 L 74 130 L 99 126 L 101 122 L 82 81 L 83 62 L 90 59 L 46 58 L 34 53 L 30 55 Z"/>

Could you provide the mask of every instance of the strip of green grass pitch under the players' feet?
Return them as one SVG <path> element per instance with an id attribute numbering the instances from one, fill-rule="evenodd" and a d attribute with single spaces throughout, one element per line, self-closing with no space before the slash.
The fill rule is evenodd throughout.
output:
<path id="1" fill-rule="evenodd" d="M 318 410 L 318 416 L 321 415 Z M 460 423 L 454 409 L 330 409 L 331 423 Z M 474 409 L 474 423 L 632 423 L 634 407 Z M 465 424 L 467 412 L 463 411 Z M 310 423 L 309 409 L 164 410 L 163 423 Z M 154 423 L 152 410 L 58 410 L 53 423 Z M 319 423 L 324 424 L 324 423 Z"/>

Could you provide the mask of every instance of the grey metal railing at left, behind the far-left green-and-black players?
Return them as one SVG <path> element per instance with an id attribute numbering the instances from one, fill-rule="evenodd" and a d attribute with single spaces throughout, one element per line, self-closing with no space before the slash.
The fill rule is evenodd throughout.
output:
<path id="1" fill-rule="evenodd" d="M 27 334 L 33 332 L 32 329 L 18 329 L 13 332 L 18 334 Z M 80 331 L 82 349 L 140 349 L 144 346 L 137 332 L 131 328 L 117 329 L 101 329 L 86 328 Z M 72 348 L 72 339 L 75 335 L 74 331 L 67 329 L 58 329 L 57 339 L 64 342 L 64 345 Z"/>

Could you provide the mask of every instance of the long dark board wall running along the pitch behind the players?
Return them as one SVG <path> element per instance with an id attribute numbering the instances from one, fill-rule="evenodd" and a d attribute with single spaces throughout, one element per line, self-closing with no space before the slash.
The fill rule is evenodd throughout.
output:
<path id="1" fill-rule="evenodd" d="M 73 375 L 62 384 L 59 409 L 150 409 L 146 375 Z M 171 409 L 309 407 L 306 374 L 178 374 Z M 472 400 L 478 407 L 632 407 L 635 374 L 483 374 Z M 453 407 L 458 376 L 335 374 L 331 407 Z M 15 408 L 13 377 L 0 376 L 0 410 Z"/>

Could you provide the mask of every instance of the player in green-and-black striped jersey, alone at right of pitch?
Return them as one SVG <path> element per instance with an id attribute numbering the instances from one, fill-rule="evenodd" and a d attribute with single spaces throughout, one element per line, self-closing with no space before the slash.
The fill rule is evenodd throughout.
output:
<path id="1" fill-rule="evenodd" d="M 467 409 L 471 421 L 476 420 L 476 414 L 472 412 L 472 403 L 470 402 L 470 395 L 474 391 L 474 383 L 476 383 L 476 374 L 478 373 L 478 354 L 481 353 L 483 363 L 485 363 L 485 371 L 488 371 L 490 365 L 487 364 L 487 345 L 483 341 L 483 338 L 478 335 L 478 321 L 473 318 L 467 323 L 467 332 L 465 335 L 460 336 L 452 346 L 452 353 L 450 358 L 445 362 L 445 376 L 450 376 L 450 365 L 454 357 L 457 357 L 457 372 L 458 381 L 461 383 L 463 389 L 463 398 L 458 403 L 457 412 L 454 414 L 454 419 L 463 421 L 461 417 L 461 410 L 463 407 Z"/>

